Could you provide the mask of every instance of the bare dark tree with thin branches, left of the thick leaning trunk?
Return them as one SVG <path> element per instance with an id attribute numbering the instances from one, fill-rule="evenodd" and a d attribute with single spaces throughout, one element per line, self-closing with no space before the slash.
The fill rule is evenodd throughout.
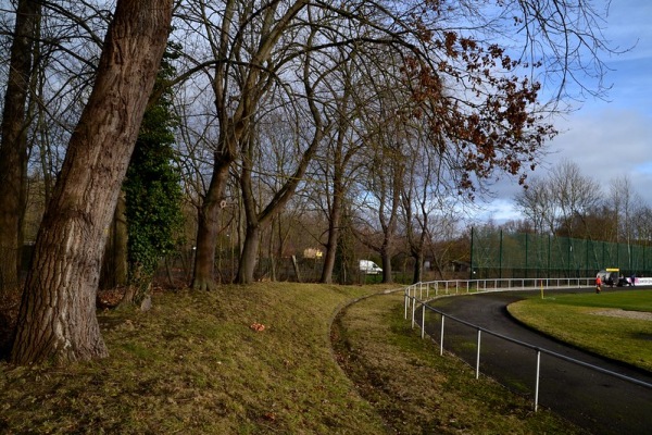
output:
<path id="1" fill-rule="evenodd" d="M 8 70 L 0 147 L 0 165 L 4 165 L 0 170 L 0 220 L 4 220 L 0 246 L 17 243 L 12 249 L 20 260 L 23 238 L 34 240 L 32 227 L 40 224 L 43 206 L 50 200 L 65 145 L 95 75 L 101 45 L 98 34 L 105 32 L 111 14 L 96 2 L 15 3 L 14 30 L 3 29 L 12 35 L 14 47 L 9 54 L 13 61 Z M 40 190 L 29 188 L 25 196 L 26 184 L 35 179 L 42 182 Z M 14 210 L 16 204 L 21 208 Z M 29 211 L 28 221 L 23 221 L 25 210 Z M 3 231 L 9 233 L 1 234 Z M 2 264 L 13 270 L 15 261 L 8 259 Z"/>

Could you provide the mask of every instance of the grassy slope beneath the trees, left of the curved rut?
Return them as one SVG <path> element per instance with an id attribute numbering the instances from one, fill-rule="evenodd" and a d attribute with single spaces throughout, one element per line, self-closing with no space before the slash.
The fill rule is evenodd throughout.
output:
<path id="1" fill-rule="evenodd" d="M 158 295 L 145 314 L 102 313 L 109 359 L 0 366 L 0 433 L 378 433 L 327 333 L 338 306 L 369 291 L 225 286 Z"/>

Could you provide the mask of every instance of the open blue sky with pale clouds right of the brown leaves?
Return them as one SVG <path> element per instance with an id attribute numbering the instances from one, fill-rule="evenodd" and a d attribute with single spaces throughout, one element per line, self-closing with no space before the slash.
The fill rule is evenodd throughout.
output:
<path id="1" fill-rule="evenodd" d="M 605 100 L 589 98 L 556 119 L 561 133 L 549 141 L 547 157 L 528 177 L 546 178 L 550 167 L 570 161 L 604 191 L 610 181 L 627 175 L 641 200 L 652 207 L 652 1 L 613 0 L 603 32 L 612 47 L 631 48 L 602 58 L 610 69 L 604 84 L 612 86 Z M 500 181 L 476 217 L 497 223 L 522 219 L 513 204 L 519 189 L 515 182 Z"/>

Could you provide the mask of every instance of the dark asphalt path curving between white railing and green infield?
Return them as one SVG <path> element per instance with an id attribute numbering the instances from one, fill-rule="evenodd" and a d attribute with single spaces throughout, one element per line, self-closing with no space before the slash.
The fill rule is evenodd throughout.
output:
<path id="1" fill-rule="evenodd" d="M 547 290 L 547 295 L 554 293 Z M 566 289 L 563 293 L 592 293 L 592 289 Z M 446 315 L 444 349 L 476 368 L 478 330 L 454 321 L 453 318 L 456 318 L 512 339 L 652 385 L 652 373 L 585 352 L 515 321 L 507 313 L 506 307 L 526 296 L 528 295 L 523 291 L 509 291 L 431 301 L 429 304 Z M 421 323 L 421 319 L 418 321 Z M 438 315 L 426 315 L 426 332 L 439 341 L 441 321 Z M 617 346 L 617 337 L 614 337 L 614 346 Z M 534 398 L 537 380 L 536 350 L 488 333 L 480 333 L 480 349 L 482 375 L 493 377 L 507 388 Z M 540 366 L 540 406 L 550 408 L 593 434 L 652 434 L 652 388 L 546 352 L 541 353 Z"/>

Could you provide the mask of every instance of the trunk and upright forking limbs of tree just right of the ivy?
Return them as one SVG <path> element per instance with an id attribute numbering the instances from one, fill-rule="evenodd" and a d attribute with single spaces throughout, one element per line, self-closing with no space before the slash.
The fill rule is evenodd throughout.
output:
<path id="1" fill-rule="evenodd" d="M 304 0 L 262 4 L 229 0 L 218 11 L 211 9 L 210 3 L 200 2 L 199 20 L 205 28 L 214 58 L 211 85 L 220 137 L 213 156 L 211 182 L 199 210 L 192 288 L 210 290 L 216 286 L 215 241 L 229 171 L 253 135 L 256 111 L 275 73 L 275 66 L 269 64 L 273 52 L 293 17 L 306 4 Z M 218 27 L 209 18 L 216 15 L 221 16 Z"/>

